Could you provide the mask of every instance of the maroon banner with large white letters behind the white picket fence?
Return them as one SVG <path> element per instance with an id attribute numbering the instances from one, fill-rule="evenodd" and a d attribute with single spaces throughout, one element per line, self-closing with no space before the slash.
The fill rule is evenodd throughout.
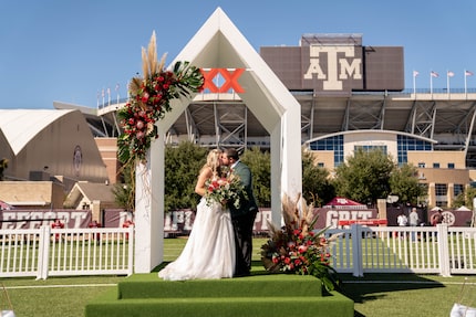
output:
<path id="1" fill-rule="evenodd" d="M 390 226 L 396 225 L 396 216 L 401 209 L 389 208 L 386 220 Z M 410 211 L 404 211 L 406 214 Z M 433 211 L 417 210 L 423 224 L 427 224 Z M 338 228 L 339 221 L 377 219 L 376 209 L 352 209 L 352 208 L 317 208 L 317 229 Z M 472 211 L 451 210 L 444 211 L 444 223 L 449 226 L 468 226 Z M 64 228 L 90 228 L 92 223 L 91 210 L 2 210 L 0 212 L 0 229 L 37 229 L 42 225 L 51 225 L 55 219 L 64 223 Z M 195 220 L 195 211 L 177 210 L 167 212 L 164 219 L 164 231 L 166 233 L 188 234 Z M 260 209 L 253 225 L 256 233 L 268 232 L 271 221 L 271 210 Z M 100 226 L 123 228 L 134 222 L 134 214 L 123 209 L 105 209 L 101 211 Z"/>

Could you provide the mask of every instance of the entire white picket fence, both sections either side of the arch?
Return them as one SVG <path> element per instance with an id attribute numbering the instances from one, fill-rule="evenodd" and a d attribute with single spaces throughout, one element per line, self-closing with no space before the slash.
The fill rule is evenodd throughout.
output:
<path id="1" fill-rule="evenodd" d="M 476 229 L 363 226 L 330 229 L 339 273 L 476 274 Z M 134 228 L 0 230 L 0 277 L 131 275 Z"/>

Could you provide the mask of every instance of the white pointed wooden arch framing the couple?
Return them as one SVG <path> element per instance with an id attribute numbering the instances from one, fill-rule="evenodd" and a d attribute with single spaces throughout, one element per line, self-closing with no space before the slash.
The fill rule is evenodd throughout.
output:
<path id="1" fill-rule="evenodd" d="M 225 12 L 217 8 L 177 55 L 200 68 L 246 68 L 240 98 L 267 129 L 271 140 L 271 221 L 281 223 L 281 194 L 296 197 L 302 188 L 301 106 L 248 43 Z M 157 124 L 146 165 L 136 169 L 135 273 L 149 273 L 163 261 L 164 137 L 187 108 L 189 99 L 173 101 L 173 110 Z"/>

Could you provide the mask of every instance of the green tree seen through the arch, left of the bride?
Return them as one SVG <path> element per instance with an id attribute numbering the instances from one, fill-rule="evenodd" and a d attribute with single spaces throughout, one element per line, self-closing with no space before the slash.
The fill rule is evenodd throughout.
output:
<path id="1" fill-rule="evenodd" d="M 206 162 L 208 149 L 189 141 L 178 147 L 165 147 L 165 211 L 195 209 L 199 197 L 195 193 L 198 173 Z"/>

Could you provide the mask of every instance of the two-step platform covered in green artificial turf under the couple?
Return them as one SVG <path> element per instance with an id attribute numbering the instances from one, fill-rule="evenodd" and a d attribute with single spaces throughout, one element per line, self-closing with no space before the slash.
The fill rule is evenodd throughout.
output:
<path id="1" fill-rule="evenodd" d="M 258 274 L 224 279 L 162 281 L 157 273 L 135 274 L 89 303 L 86 317 L 99 316 L 353 316 L 353 302 L 323 294 L 313 276 Z"/>

